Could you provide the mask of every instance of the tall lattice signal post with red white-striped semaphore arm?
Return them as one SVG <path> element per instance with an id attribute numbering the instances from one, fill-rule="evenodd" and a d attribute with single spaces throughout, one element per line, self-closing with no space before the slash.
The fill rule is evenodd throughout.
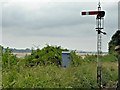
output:
<path id="1" fill-rule="evenodd" d="M 96 31 L 97 31 L 97 83 L 99 88 L 102 88 L 102 63 L 100 60 L 100 56 L 102 54 L 102 35 L 106 35 L 105 32 L 102 31 L 104 29 L 104 16 L 105 11 L 101 11 L 100 2 L 98 3 L 98 11 L 88 11 L 82 12 L 82 15 L 96 15 Z"/>

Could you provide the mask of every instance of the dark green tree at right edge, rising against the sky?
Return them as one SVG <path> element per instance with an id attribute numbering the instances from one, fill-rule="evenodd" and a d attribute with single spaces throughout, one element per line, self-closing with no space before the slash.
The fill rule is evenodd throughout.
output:
<path id="1" fill-rule="evenodd" d="M 109 53 L 114 54 L 114 49 L 116 45 L 120 45 L 120 30 L 112 36 L 111 41 L 109 42 Z"/>

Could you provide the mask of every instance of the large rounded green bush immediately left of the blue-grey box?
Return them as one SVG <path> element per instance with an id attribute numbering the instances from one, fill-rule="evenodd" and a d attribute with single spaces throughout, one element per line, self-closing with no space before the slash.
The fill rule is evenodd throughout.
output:
<path id="1" fill-rule="evenodd" d="M 26 65 L 61 65 L 61 53 L 67 49 L 61 49 L 60 46 L 49 46 L 47 45 L 43 49 L 32 50 L 31 55 L 26 56 Z"/>

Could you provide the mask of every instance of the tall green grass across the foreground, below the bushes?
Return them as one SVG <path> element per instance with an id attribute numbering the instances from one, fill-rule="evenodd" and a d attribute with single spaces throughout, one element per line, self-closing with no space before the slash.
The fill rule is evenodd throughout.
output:
<path id="1" fill-rule="evenodd" d="M 103 62 L 103 84 L 114 88 L 117 82 L 116 62 Z M 83 62 L 76 67 L 55 65 L 3 69 L 3 88 L 97 88 L 96 63 Z"/>

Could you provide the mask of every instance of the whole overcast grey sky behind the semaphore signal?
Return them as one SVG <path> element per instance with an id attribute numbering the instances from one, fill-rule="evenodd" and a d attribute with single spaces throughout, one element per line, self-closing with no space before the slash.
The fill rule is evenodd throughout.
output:
<path id="1" fill-rule="evenodd" d="M 96 16 L 80 12 L 97 10 L 98 0 L 7 0 L 0 10 L 2 42 L 5 47 L 42 48 L 45 44 L 96 51 Z M 103 2 L 104 1 L 104 2 Z M 109 1 L 109 2 L 108 2 Z M 118 29 L 118 0 L 101 0 L 105 11 L 102 51 Z"/>

